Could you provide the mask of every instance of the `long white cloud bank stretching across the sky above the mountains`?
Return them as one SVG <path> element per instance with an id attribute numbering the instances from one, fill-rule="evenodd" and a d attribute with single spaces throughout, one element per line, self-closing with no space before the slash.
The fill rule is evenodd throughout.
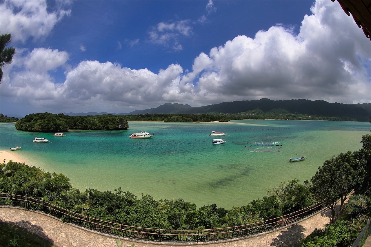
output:
<path id="1" fill-rule="evenodd" d="M 178 64 L 152 72 L 92 60 L 69 67 L 65 51 L 20 50 L 6 68 L 0 94 L 56 112 L 120 113 L 166 102 L 201 106 L 260 98 L 371 102 L 370 40 L 337 2 L 316 1 L 311 11 L 298 34 L 273 26 L 255 37 L 237 36 L 201 52 L 190 72 Z M 162 23 L 154 40 L 189 34 L 185 26 Z M 65 80 L 55 83 L 52 72 L 61 68 Z"/>

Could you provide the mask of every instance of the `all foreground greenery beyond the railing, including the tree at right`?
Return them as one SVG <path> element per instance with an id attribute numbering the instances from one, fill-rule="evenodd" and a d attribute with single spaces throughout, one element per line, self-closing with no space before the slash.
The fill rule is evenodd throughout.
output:
<path id="1" fill-rule="evenodd" d="M 0 192 L 33 197 L 92 218 L 137 227 L 197 230 L 231 227 L 270 220 L 298 211 L 313 202 L 324 201 L 331 210 L 331 223 L 315 230 L 301 246 L 350 246 L 370 218 L 371 134 L 362 136 L 362 148 L 326 160 L 315 175 L 303 184 L 298 179 L 282 182 L 267 190 L 266 196 L 247 205 L 224 209 L 216 204 L 196 204 L 181 198 L 154 200 L 150 195 L 132 194 L 121 187 L 112 191 L 93 188 L 85 192 L 72 188 L 69 178 L 45 172 L 35 166 L 6 160 L 0 163 Z M 1 158 L 6 153 L 0 152 Z M 17 160 L 14 154 L 8 158 Z M 13 156 L 12 156 L 13 155 Z M 5 159 L 5 158 L 4 158 Z M 354 196 L 344 204 L 349 192 Z M 359 198 L 362 198 L 360 200 Z M 335 205 L 340 201 L 340 207 Z M 365 205 L 359 205 L 364 202 Z M 6 204 L 0 199 L 0 204 Z M 368 203 L 368 204 L 367 204 Z M 368 217 L 367 217 L 368 215 Z M 62 220 L 72 221 L 66 217 Z M 339 234 L 334 234 L 339 233 Z M 334 245 L 334 243 L 336 243 Z"/>

